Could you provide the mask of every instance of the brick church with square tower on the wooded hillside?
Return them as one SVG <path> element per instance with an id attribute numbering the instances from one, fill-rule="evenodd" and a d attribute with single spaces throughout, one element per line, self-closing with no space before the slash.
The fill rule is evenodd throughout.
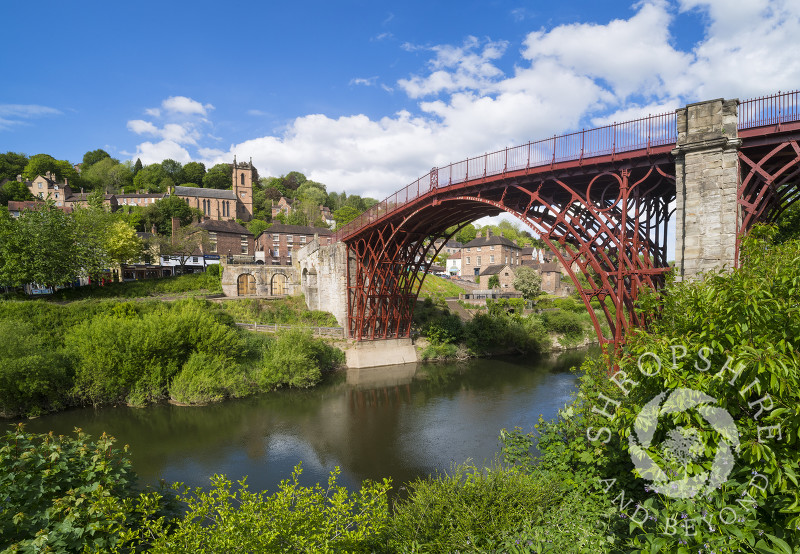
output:
<path id="1" fill-rule="evenodd" d="M 234 157 L 230 190 L 175 187 L 173 194 L 209 219 L 250 221 L 253 219 L 253 181 L 257 174 L 252 159 L 249 163 L 237 162 Z"/>

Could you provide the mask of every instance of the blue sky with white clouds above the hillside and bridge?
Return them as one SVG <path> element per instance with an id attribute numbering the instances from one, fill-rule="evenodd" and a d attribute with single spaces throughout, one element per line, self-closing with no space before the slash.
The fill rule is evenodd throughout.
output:
<path id="1" fill-rule="evenodd" d="M 0 151 L 253 159 L 382 199 L 506 146 L 800 87 L 798 0 L 3 0 Z M 7 28 L 11 32 L 11 28 Z"/>

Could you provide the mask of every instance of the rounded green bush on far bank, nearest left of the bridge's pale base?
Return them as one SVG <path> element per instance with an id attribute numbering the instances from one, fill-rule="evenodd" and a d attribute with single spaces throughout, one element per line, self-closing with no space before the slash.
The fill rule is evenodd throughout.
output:
<path id="1" fill-rule="evenodd" d="M 322 371 L 344 363 L 344 354 L 311 331 L 288 329 L 278 333 L 272 347 L 264 353 L 263 364 L 254 375 L 262 390 L 282 386 L 308 388 L 319 383 Z"/>

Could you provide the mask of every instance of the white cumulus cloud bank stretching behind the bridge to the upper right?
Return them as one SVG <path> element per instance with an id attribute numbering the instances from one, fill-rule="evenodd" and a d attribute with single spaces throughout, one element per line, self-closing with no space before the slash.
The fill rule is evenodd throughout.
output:
<path id="1" fill-rule="evenodd" d="M 671 34 L 681 12 L 706 25 L 688 49 L 676 46 Z M 302 115 L 280 132 L 225 149 L 202 144 L 192 133 L 210 125 L 203 118 L 213 106 L 172 97 L 160 110 L 164 117 L 183 117 L 166 122 L 181 129 L 142 120 L 129 128 L 158 139 L 139 145 L 138 151 L 155 156 L 151 161 L 167 152 L 187 159 L 187 149 L 207 165 L 229 162 L 234 154 L 252 156 L 261 175 L 298 170 L 329 190 L 383 198 L 432 166 L 467 156 L 688 102 L 793 88 L 800 58 L 787 45 L 797 36 L 796 0 L 644 0 L 629 18 L 531 29 L 516 44 L 476 37 L 458 45 L 403 44 L 428 59 L 397 81 L 406 109 L 381 118 Z M 372 78 L 357 81 L 352 84 L 373 84 Z"/>

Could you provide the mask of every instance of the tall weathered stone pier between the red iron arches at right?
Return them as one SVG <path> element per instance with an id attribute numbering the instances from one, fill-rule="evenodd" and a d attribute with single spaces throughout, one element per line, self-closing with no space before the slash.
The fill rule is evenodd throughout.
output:
<path id="1" fill-rule="evenodd" d="M 741 214 L 738 100 L 710 100 L 677 110 L 675 263 L 678 279 L 736 263 Z"/>

